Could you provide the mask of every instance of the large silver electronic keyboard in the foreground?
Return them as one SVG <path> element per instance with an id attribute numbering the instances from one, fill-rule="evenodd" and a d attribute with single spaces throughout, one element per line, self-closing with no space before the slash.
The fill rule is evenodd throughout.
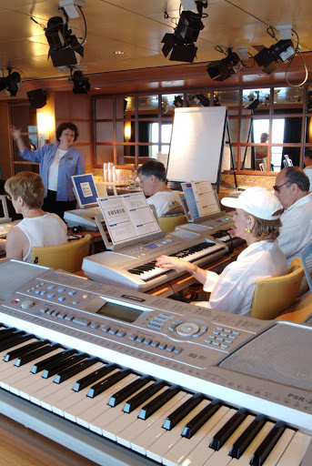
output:
<path id="1" fill-rule="evenodd" d="M 311 464 L 311 327 L 52 270 L 0 322 L 1 412 L 97 464 Z"/>

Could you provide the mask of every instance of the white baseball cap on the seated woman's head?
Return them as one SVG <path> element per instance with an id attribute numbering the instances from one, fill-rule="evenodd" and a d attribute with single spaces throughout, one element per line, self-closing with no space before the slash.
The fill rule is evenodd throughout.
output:
<path id="1" fill-rule="evenodd" d="M 238 198 L 223 198 L 221 203 L 228 208 L 243 208 L 257 218 L 277 220 L 283 206 L 266 187 L 248 187 Z"/>

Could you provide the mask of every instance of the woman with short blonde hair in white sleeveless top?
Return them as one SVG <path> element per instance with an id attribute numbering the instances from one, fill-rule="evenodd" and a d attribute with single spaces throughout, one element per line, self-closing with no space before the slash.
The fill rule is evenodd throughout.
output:
<path id="1" fill-rule="evenodd" d="M 16 214 L 23 215 L 23 220 L 7 233 L 6 258 L 32 262 L 32 248 L 58 246 L 67 242 L 64 221 L 41 208 L 45 198 L 42 177 L 22 171 L 5 181 L 5 192 Z"/>

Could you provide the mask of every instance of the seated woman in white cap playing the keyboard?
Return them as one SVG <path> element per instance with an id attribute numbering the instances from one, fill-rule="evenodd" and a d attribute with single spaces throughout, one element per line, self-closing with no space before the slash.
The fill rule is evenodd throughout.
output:
<path id="1" fill-rule="evenodd" d="M 235 262 L 226 266 L 221 275 L 164 255 L 157 258 L 156 266 L 185 270 L 200 281 L 211 295 L 209 301 L 196 305 L 248 315 L 257 279 L 279 277 L 288 272 L 287 259 L 277 243 L 282 205 L 263 187 L 249 187 L 239 198 L 223 198 L 221 203 L 236 208 L 235 227 L 229 233 L 235 232 L 247 242 L 247 248 Z"/>

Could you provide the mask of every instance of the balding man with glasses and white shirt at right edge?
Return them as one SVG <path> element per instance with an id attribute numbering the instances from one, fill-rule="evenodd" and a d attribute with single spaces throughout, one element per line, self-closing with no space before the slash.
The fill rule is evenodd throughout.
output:
<path id="1" fill-rule="evenodd" d="M 281 170 L 273 187 L 275 195 L 284 208 L 281 215 L 282 228 L 278 237 L 278 246 L 287 257 L 288 267 L 293 258 L 299 258 L 301 252 L 312 242 L 312 193 L 310 181 L 299 167 L 287 167 Z M 308 260 L 307 260 L 308 262 Z M 312 270 L 312 258 L 307 263 Z M 300 295 L 307 291 L 304 278 Z"/>

